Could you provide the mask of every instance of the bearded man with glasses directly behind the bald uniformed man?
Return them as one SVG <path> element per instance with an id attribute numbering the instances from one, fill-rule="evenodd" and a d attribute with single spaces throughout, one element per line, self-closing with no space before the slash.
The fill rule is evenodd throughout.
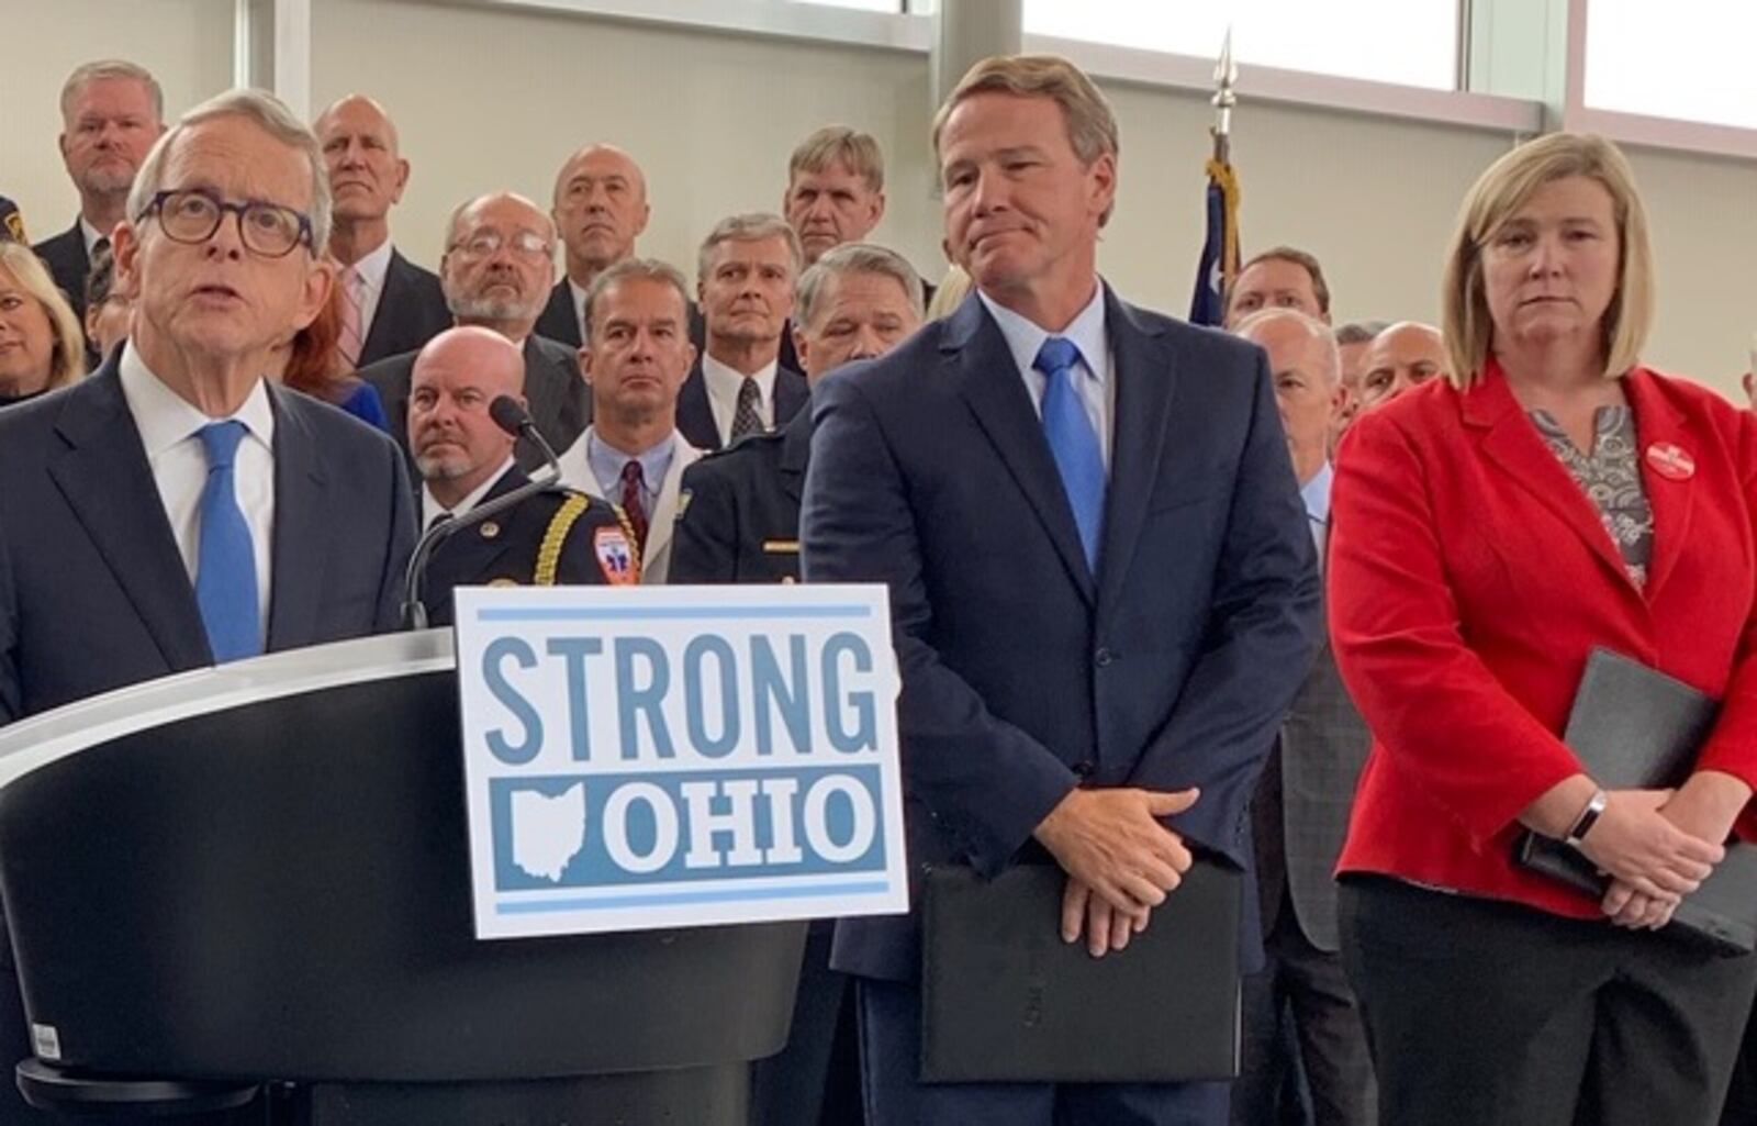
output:
<path id="1" fill-rule="evenodd" d="M 531 420 L 552 448 L 566 450 L 592 422 L 592 401 L 580 381 L 573 348 L 536 334 L 553 285 L 555 223 L 536 204 L 511 191 L 495 191 L 452 213 L 445 256 L 439 258 L 446 306 L 459 325 L 492 328 L 518 344 L 525 355 Z M 404 443 L 415 355 L 388 357 L 358 372 L 378 388 L 390 429 Z M 527 473 L 545 464 L 529 441 L 520 441 L 513 455 Z"/>

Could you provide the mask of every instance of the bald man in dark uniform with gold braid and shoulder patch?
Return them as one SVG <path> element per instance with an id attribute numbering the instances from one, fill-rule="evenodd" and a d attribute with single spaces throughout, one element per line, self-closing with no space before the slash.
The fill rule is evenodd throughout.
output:
<path id="1" fill-rule="evenodd" d="M 518 348 L 488 328 L 448 328 L 422 348 L 408 434 L 423 481 L 423 527 L 529 481 L 513 460 L 513 436 L 488 415 L 499 395 L 522 397 L 524 374 Z M 633 585 L 640 573 L 622 511 L 557 485 L 445 539 L 429 560 L 422 603 L 429 624 L 448 625 L 455 587 Z"/>

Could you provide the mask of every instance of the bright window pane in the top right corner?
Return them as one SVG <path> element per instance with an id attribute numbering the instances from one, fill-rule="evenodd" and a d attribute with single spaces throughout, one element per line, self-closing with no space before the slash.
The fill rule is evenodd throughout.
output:
<path id="1" fill-rule="evenodd" d="M 1757 5 L 1592 0 L 1587 105 L 1757 128 Z"/>

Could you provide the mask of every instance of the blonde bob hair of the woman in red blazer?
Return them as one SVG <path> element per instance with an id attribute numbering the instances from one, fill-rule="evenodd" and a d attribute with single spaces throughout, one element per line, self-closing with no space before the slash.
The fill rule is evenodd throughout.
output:
<path id="1" fill-rule="evenodd" d="M 1611 193 L 1620 253 L 1616 292 L 1601 323 L 1604 376 L 1625 374 L 1641 357 L 1653 325 L 1653 249 L 1646 207 L 1634 170 L 1622 151 L 1590 134 L 1548 134 L 1488 165 L 1458 209 L 1441 283 L 1441 330 L 1446 337 L 1446 378 L 1471 386 L 1488 364 L 1495 327 L 1483 288 L 1483 248 L 1530 200 L 1537 188 L 1585 176 Z"/>

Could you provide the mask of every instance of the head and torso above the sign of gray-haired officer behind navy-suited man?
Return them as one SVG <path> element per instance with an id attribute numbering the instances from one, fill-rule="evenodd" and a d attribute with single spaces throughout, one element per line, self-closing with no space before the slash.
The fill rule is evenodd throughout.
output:
<path id="1" fill-rule="evenodd" d="M 806 381 L 884 355 L 921 327 L 921 278 L 901 255 L 870 242 L 826 251 L 799 278 L 794 348 Z M 683 473 L 671 555 L 673 583 L 799 580 L 799 494 L 812 451 L 812 411 L 752 434 Z"/>

